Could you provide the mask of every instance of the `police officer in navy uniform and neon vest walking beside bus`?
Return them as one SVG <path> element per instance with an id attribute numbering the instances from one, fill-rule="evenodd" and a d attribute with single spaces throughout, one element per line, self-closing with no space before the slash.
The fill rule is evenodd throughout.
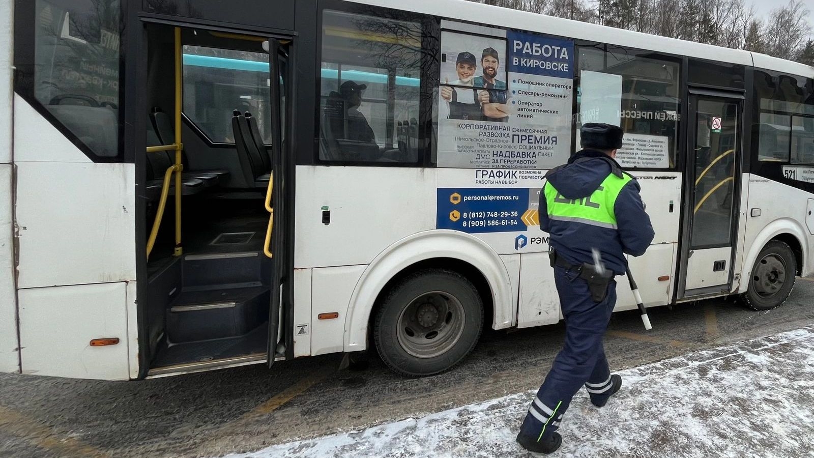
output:
<path id="1" fill-rule="evenodd" d="M 641 256 L 653 227 L 639 185 L 615 161 L 622 147 L 619 126 L 588 123 L 580 130 L 583 150 L 550 170 L 540 193 L 540 229 L 549 232 L 551 264 L 565 319 L 565 346 L 554 359 L 528 409 L 517 442 L 551 453 L 571 398 L 582 385 L 597 407 L 622 385 L 610 374 L 602 337 L 616 303 L 615 275 L 624 275 L 624 253 Z M 592 249 L 600 253 L 597 268 Z"/>

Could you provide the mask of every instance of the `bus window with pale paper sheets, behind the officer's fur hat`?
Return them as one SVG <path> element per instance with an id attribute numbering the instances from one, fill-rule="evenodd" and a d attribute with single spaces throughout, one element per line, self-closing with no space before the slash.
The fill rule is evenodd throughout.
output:
<path id="1" fill-rule="evenodd" d="M 624 146 L 617 160 L 625 167 L 672 169 L 681 112 L 679 64 L 602 48 L 580 46 L 578 124 L 622 126 Z"/>

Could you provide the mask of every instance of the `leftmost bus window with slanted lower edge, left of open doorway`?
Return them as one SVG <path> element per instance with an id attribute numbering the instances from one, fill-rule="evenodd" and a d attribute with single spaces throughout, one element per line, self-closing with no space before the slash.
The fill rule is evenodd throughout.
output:
<path id="1" fill-rule="evenodd" d="M 36 0 L 34 97 L 90 151 L 119 156 L 119 0 Z"/>

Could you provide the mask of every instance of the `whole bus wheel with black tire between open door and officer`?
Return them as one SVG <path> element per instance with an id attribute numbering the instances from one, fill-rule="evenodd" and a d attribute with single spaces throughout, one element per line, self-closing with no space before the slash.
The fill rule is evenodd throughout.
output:
<path id="1" fill-rule="evenodd" d="M 383 362 L 406 377 L 426 377 L 460 363 L 480 337 L 484 302 L 456 271 L 427 269 L 390 288 L 374 320 Z"/>

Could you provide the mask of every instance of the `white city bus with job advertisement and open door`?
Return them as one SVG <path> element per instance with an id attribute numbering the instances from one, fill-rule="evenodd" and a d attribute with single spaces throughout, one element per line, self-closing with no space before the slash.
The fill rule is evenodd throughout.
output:
<path id="1" fill-rule="evenodd" d="M 646 306 L 770 310 L 814 268 L 803 64 L 463 0 L 16 0 L 0 21 L 3 372 L 370 352 L 426 377 L 484 328 L 546 332 L 540 189 L 587 122 L 625 132 Z"/>

